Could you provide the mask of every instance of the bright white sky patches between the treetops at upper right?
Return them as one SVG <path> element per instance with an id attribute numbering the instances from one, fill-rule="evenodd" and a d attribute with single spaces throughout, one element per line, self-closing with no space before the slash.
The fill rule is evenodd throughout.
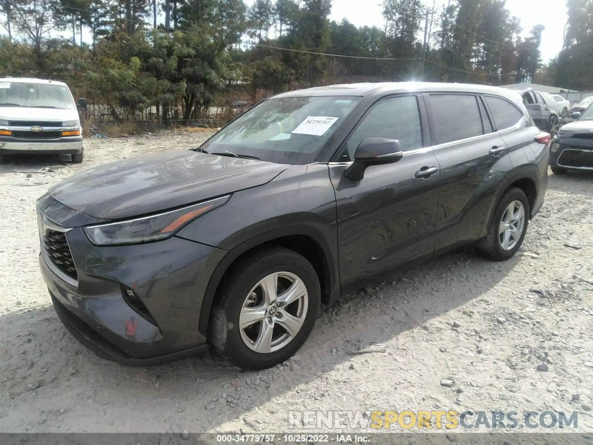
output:
<path id="1" fill-rule="evenodd" d="M 253 1 L 248 0 L 247 3 L 251 4 Z M 431 0 L 425 0 L 425 3 L 432 7 Z M 378 0 L 333 0 L 331 5 L 331 20 L 347 18 L 356 26 L 385 26 Z M 447 0 L 436 0 L 437 10 L 440 11 L 443 5 L 447 5 Z M 524 36 L 528 36 L 535 25 L 542 24 L 546 27 L 541 36 L 540 47 L 544 63 L 562 50 L 564 27 L 568 20 L 568 10 L 563 0 L 506 0 L 506 8 L 511 11 L 511 15 L 521 19 Z"/>

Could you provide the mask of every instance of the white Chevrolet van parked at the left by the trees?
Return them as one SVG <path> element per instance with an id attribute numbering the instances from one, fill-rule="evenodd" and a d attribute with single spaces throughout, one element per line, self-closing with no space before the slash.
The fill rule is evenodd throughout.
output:
<path id="1" fill-rule="evenodd" d="M 82 128 L 77 108 L 64 82 L 0 78 L 0 161 L 5 154 L 66 153 L 81 163 Z"/>

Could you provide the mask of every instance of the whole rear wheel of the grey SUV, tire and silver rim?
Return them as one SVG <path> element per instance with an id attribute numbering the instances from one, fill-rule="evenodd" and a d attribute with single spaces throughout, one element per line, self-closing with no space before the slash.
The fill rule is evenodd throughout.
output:
<path id="1" fill-rule="evenodd" d="M 523 243 L 529 223 L 529 201 L 525 192 L 513 187 L 500 198 L 488 234 L 479 241 L 478 250 L 493 261 L 508 260 Z"/>

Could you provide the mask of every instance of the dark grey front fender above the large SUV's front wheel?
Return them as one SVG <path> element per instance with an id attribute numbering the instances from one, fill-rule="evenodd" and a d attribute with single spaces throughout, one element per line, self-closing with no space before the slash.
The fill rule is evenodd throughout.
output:
<path id="1" fill-rule="evenodd" d="M 240 255 L 286 236 L 313 239 L 325 256 L 330 299 L 339 294 L 336 196 L 327 165 L 292 166 L 271 182 L 235 192 L 227 204 L 198 218 L 176 236 L 228 250 L 208 284 L 200 332 L 208 319 L 219 282 Z"/>

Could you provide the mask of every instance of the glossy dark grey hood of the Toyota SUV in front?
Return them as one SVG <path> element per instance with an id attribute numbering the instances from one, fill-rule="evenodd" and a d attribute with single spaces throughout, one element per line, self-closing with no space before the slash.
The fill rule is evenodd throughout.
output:
<path id="1" fill-rule="evenodd" d="M 81 171 L 48 193 L 76 211 L 115 220 L 257 187 L 287 168 L 264 161 L 169 150 Z"/>

